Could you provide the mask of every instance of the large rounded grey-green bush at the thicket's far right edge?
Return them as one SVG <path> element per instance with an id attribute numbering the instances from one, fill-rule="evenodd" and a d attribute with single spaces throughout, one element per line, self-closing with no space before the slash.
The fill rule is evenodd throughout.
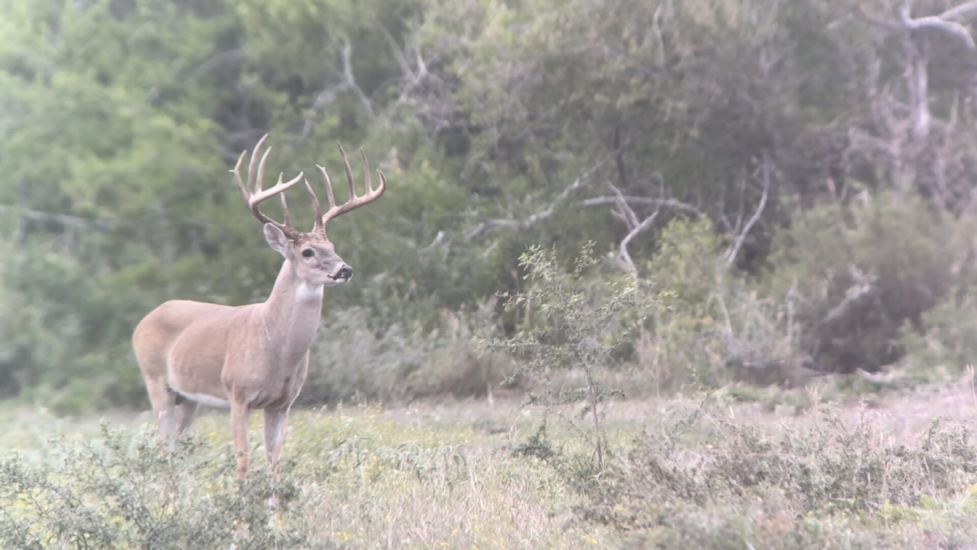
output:
<path id="1" fill-rule="evenodd" d="M 919 198 L 881 194 L 844 208 L 827 204 L 779 232 L 769 287 L 796 292 L 804 349 L 827 370 L 874 370 L 900 358 L 904 323 L 973 276 L 961 257 L 969 222 Z"/>

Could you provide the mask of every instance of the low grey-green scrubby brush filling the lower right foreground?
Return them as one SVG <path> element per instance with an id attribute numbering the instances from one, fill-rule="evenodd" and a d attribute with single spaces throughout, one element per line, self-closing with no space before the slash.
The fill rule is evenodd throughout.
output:
<path id="1" fill-rule="evenodd" d="M 632 531 L 635 547 L 946 547 L 933 539 L 973 534 L 972 523 L 947 525 L 965 506 L 936 504 L 977 482 L 965 426 L 934 420 L 906 441 L 822 409 L 803 423 L 704 417 L 636 440 L 606 500 L 581 512 Z"/>

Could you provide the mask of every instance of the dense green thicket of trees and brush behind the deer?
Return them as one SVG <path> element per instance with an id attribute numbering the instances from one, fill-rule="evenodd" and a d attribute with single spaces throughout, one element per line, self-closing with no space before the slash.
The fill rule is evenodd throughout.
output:
<path id="1" fill-rule="evenodd" d="M 915 0 L 910 17 L 973 12 Z M 0 393 L 145 406 L 164 300 L 264 298 L 227 170 L 388 175 L 330 237 L 305 402 L 483 392 L 520 257 L 586 242 L 662 307 L 632 392 L 972 360 L 975 58 L 882 0 L 12 0 L 0 17 Z M 949 28 L 949 27 L 944 27 Z M 296 196 L 295 218 L 310 216 Z M 621 324 L 635 319 L 621 317 Z M 484 336 L 481 336 L 484 337 Z"/>

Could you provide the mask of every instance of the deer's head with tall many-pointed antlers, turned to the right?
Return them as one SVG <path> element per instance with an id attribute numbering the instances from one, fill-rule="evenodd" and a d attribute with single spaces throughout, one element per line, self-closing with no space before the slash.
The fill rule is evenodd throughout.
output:
<path id="1" fill-rule="evenodd" d="M 261 189 L 261 182 L 265 176 L 265 161 L 268 159 L 268 153 L 272 150 L 272 148 L 265 149 L 265 154 L 258 160 L 258 151 L 265 144 L 266 139 L 268 139 L 268 134 L 265 134 L 258 142 L 258 145 L 254 147 L 254 151 L 251 154 L 251 160 L 248 162 L 246 186 L 240 177 L 240 167 L 244 162 L 244 156 L 247 154 L 246 150 L 241 153 L 232 171 L 234 172 L 234 181 L 237 183 L 237 188 L 244 196 L 244 200 L 247 201 L 251 213 L 260 222 L 265 224 L 265 240 L 268 241 L 269 246 L 285 257 L 295 270 L 295 275 L 298 279 L 306 284 L 332 286 L 350 280 L 353 276 L 353 268 L 348 266 L 339 257 L 339 254 L 336 254 L 335 247 L 325 234 L 325 226 L 329 220 L 380 198 L 383 191 L 387 190 L 387 180 L 383 177 L 383 172 L 377 170 L 377 174 L 380 177 L 380 187 L 374 190 L 373 182 L 369 174 L 369 164 L 366 162 L 366 155 L 361 149 L 360 153 L 363 159 L 366 192 L 362 196 L 357 196 L 356 190 L 353 188 L 353 171 L 350 169 L 350 162 L 346 158 L 346 151 L 340 146 L 339 154 L 343 157 L 343 166 L 346 168 L 346 181 L 349 184 L 350 197 L 343 204 L 336 205 L 335 197 L 332 194 L 332 182 L 329 180 L 329 174 L 326 173 L 325 168 L 317 165 L 319 171 L 322 173 L 322 179 L 325 181 L 325 190 L 329 199 L 329 209 L 323 214 L 319 206 L 319 197 L 316 196 L 316 191 L 309 185 L 308 180 L 302 179 L 303 174 L 301 172 L 294 179 L 287 182 L 282 182 L 281 175 L 279 174 L 278 183 L 274 187 L 268 190 Z M 257 164 L 257 167 L 255 164 Z M 306 190 L 309 191 L 312 197 L 313 210 L 316 214 L 312 231 L 309 233 L 298 231 L 292 227 L 288 217 L 288 204 L 285 202 L 284 191 L 298 184 L 300 181 L 305 182 Z M 269 218 L 258 209 L 258 205 L 262 201 L 275 195 L 281 198 L 281 210 L 284 217 L 284 222 L 281 224 Z"/>

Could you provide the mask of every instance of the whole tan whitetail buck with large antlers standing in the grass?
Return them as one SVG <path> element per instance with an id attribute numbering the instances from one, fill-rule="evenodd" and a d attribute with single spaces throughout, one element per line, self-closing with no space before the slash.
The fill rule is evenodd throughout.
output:
<path id="1" fill-rule="evenodd" d="M 321 213 L 319 198 L 306 181 L 316 220 L 311 233 L 300 232 L 289 222 L 284 191 L 301 181 L 302 174 L 285 183 L 279 175 L 275 187 L 262 190 L 271 148 L 260 161 L 258 153 L 267 138 L 266 134 L 251 154 L 246 186 L 240 177 L 246 150 L 233 172 L 251 213 L 265 225 L 269 246 L 285 259 L 268 300 L 237 307 L 172 300 L 144 317 L 132 338 L 160 437 L 172 449 L 176 438 L 190 427 L 199 403 L 230 406 L 237 474 L 241 478 L 248 466 L 248 413 L 257 408 L 265 410 L 265 453 L 275 475 L 288 409 L 309 370 L 309 348 L 322 310 L 322 287 L 353 276 L 353 268 L 336 254 L 325 235 L 326 224 L 380 198 L 387 189 L 383 173 L 377 170 L 380 187 L 373 190 L 366 155 L 361 151 L 366 192 L 357 196 L 349 160 L 340 147 L 350 198 L 336 205 L 329 175 L 319 166 L 329 209 Z M 262 201 L 276 194 L 281 197 L 283 224 L 258 209 Z"/>

